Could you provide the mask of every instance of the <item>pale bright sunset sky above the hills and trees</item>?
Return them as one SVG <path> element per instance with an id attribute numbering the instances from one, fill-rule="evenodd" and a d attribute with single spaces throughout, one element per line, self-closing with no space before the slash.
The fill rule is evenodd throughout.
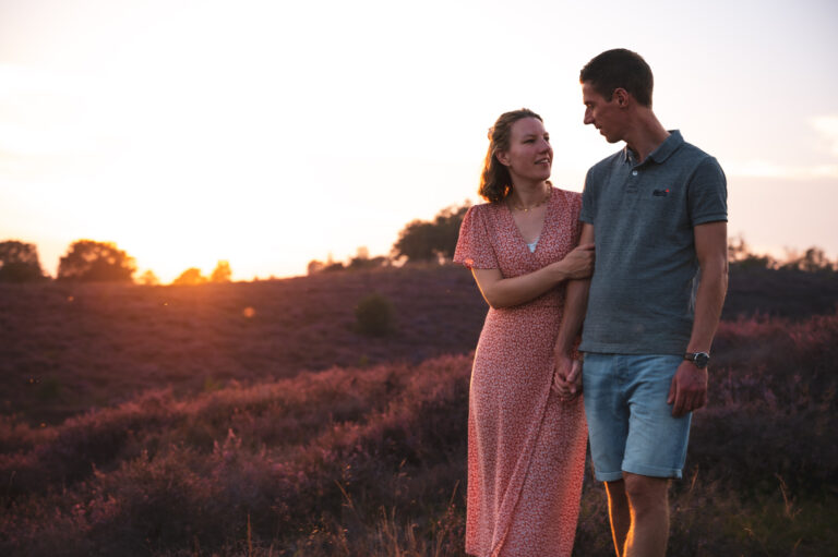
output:
<path id="1" fill-rule="evenodd" d="M 616 47 L 655 112 L 716 156 L 729 233 L 838 257 L 838 4 L 0 0 L 0 241 L 55 275 L 79 239 L 170 281 L 387 254 L 476 194 L 487 131 L 540 113 L 552 181 L 621 145 L 583 124 L 579 69 Z"/>

